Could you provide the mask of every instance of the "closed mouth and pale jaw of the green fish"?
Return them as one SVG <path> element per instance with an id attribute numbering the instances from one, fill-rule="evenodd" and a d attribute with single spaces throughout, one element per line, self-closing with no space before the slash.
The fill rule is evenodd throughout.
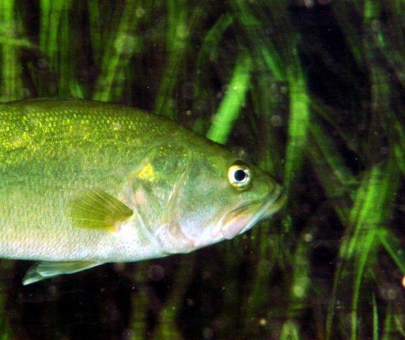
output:
<path id="1" fill-rule="evenodd" d="M 275 193 L 269 193 L 263 200 L 237 206 L 221 220 L 221 234 L 226 239 L 233 239 L 236 235 L 247 232 L 282 208 L 285 200 L 282 188 L 278 187 Z"/>

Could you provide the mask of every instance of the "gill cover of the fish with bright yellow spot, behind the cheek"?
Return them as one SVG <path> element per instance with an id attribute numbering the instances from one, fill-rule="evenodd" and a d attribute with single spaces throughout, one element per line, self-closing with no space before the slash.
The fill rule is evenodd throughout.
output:
<path id="1" fill-rule="evenodd" d="M 189 178 L 192 152 L 171 142 L 153 147 L 132 171 L 126 196 L 145 234 L 166 254 L 189 252 L 194 243 L 182 232 L 182 188 Z"/>

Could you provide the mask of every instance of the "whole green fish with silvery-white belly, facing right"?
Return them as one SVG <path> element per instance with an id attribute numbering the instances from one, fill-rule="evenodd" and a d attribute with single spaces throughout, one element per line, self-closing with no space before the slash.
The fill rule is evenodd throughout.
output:
<path id="1" fill-rule="evenodd" d="M 186 254 L 279 210 L 273 176 L 152 113 L 84 99 L 0 104 L 0 258 L 23 285 Z"/>

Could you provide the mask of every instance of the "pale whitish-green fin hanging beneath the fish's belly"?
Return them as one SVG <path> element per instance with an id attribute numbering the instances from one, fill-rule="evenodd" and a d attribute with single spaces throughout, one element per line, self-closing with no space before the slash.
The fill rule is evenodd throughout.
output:
<path id="1" fill-rule="evenodd" d="M 53 278 L 63 274 L 77 273 L 95 266 L 102 262 L 39 262 L 28 269 L 23 278 L 23 285 L 29 285 L 45 278 Z"/>

